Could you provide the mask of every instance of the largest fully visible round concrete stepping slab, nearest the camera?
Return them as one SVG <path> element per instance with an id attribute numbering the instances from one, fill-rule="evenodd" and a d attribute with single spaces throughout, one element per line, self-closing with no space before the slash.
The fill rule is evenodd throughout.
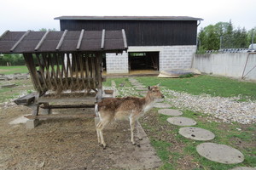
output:
<path id="1" fill-rule="evenodd" d="M 233 164 L 244 160 L 239 150 L 225 144 L 203 143 L 197 145 L 196 150 L 201 156 L 219 163 Z"/>

